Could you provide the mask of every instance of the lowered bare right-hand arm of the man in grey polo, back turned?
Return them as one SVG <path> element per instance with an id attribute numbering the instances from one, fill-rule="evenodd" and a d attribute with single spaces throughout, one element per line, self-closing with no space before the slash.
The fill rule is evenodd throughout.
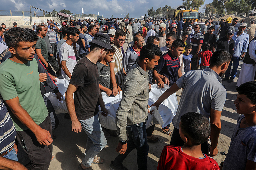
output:
<path id="1" fill-rule="evenodd" d="M 211 154 L 209 156 L 215 156 L 218 154 L 218 139 L 220 135 L 221 129 L 221 122 L 220 122 L 221 111 L 214 110 L 211 108 L 211 116 L 210 116 L 210 123 L 211 123 L 211 143 L 212 146 L 210 148 Z"/>

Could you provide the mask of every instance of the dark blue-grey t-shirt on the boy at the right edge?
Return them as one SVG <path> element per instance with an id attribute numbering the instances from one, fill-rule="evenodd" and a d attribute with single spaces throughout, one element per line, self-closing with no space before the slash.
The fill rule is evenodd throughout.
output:
<path id="1" fill-rule="evenodd" d="M 243 118 L 237 120 L 223 170 L 245 169 L 247 160 L 256 162 L 256 125 L 240 128 Z"/>

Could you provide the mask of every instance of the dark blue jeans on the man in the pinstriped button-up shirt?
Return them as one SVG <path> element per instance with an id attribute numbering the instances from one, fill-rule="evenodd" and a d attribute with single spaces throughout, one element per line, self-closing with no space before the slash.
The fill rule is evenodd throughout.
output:
<path id="1" fill-rule="evenodd" d="M 116 159 L 113 161 L 113 165 L 120 167 L 127 155 L 136 148 L 138 168 L 139 170 L 146 170 L 149 147 L 145 123 L 142 122 L 134 125 L 127 125 L 126 131 L 129 138 L 127 142 L 127 150 L 124 154 L 118 154 Z"/>

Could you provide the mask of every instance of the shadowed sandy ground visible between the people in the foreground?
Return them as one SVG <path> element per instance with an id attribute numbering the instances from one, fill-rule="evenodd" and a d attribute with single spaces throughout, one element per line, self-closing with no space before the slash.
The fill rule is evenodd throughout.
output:
<path id="1" fill-rule="evenodd" d="M 126 49 L 127 44 L 124 45 Z M 238 74 L 241 69 L 242 62 L 240 62 L 238 67 Z M 236 81 L 232 83 L 227 83 L 224 81 L 223 84 L 227 90 L 227 100 L 222 111 L 221 116 L 221 132 L 218 143 L 219 154 L 214 157 L 214 159 L 220 164 L 221 161 L 225 159 L 225 154 L 228 152 L 228 147 L 230 144 L 231 136 L 236 125 L 237 119 L 240 116 L 236 113 L 236 108 L 233 101 L 236 99 Z M 178 101 L 180 101 L 181 90 L 177 92 Z M 193 100 L 191 100 L 193 102 Z M 82 162 L 84 158 L 86 140 L 87 136 L 84 131 L 81 133 L 74 133 L 71 131 L 71 120 L 65 119 L 64 114 L 57 115 L 60 124 L 57 129 L 53 131 L 53 134 L 56 134 L 57 138 L 53 140 L 53 155 L 55 159 L 51 161 L 49 170 L 73 170 L 78 169 L 79 163 Z M 173 126 L 171 124 L 171 129 Z M 156 125 L 153 135 L 160 138 L 160 141 L 157 143 L 148 143 L 149 144 L 149 153 L 148 153 L 148 169 L 155 170 L 157 168 L 157 163 L 161 155 L 162 149 L 165 145 L 170 143 L 171 136 L 165 135 L 160 132 L 160 125 Z M 106 139 L 108 141 L 107 146 L 98 154 L 98 156 L 105 159 L 105 163 L 101 165 L 92 164 L 94 170 L 107 170 L 109 164 L 112 160 L 116 158 L 118 153 L 115 151 L 118 144 L 118 137 L 111 137 L 108 132 L 104 131 Z M 20 149 L 19 149 L 20 151 Z M 19 153 L 19 152 L 18 152 Z M 26 155 L 19 153 L 19 160 L 24 164 L 28 161 Z M 136 150 L 133 150 L 123 162 L 129 170 L 138 169 L 137 159 L 136 159 Z"/>

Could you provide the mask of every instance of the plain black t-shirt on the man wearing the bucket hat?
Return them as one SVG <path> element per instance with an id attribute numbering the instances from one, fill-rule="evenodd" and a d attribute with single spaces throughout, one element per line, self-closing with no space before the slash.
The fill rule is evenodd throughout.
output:
<path id="1" fill-rule="evenodd" d="M 85 120 L 97 115 L 99 112 L 99 73 L 96 64 L 84 57 L 76 64 L 71 85 L 77 85 L 74 93 L 75 110 L 78 120 Z"/>

